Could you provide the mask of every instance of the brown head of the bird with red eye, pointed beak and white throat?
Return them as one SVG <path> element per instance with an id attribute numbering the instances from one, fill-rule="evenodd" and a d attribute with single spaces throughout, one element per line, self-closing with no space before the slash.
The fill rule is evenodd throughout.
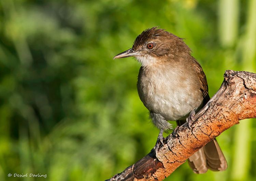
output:
<path id="1" fill-rule="evenodd" d="M 142 66 L 159 61 L 177 60 L 190 55 L 190 49 L 183 39 L 163 29 L 153 27 L 144 30 L 135 39 L 132 48 L 116 55 L 115 58 L 135 57 Z"/>

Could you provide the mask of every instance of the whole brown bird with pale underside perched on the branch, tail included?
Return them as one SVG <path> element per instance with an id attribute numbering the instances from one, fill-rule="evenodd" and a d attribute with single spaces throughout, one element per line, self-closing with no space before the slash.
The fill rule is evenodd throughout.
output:
<path id="1" fill-rule="evenodd" d="M 158 27 L 144 30 L 132 48 L 114 59 L 125 57 L 134 57 L 141 63 L 137 89 L 153 124 L 160 130 L 154 147 L 157 153 L 163 145 L 163 132 L 172 129 L 168 121 L 176 121 L 178 126 L 191 123 L 196 112 L 210 100 L 207 79 L 184 39 Z M 196 174 L 227 169 L 216 139 L 191 155 L 188 164 Z"/>

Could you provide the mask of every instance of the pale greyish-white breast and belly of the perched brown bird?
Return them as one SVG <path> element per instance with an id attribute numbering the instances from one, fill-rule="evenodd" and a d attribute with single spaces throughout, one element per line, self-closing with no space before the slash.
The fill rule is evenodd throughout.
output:
<path id="1" fill-rule="evenodd" d="M 166 120 L 184 119 L 202 103 L 200 89 L 191 90 L 191 81 L 184 71 L 158 65 L 142 68 L 140 74 L 138 93 L 141 101 L 148 110 L 161 114 Z"/>

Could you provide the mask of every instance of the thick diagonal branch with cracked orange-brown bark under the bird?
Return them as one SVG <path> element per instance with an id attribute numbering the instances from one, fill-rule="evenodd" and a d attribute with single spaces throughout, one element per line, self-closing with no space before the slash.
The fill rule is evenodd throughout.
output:
<path id="1" fill-rule="evenodd" d="M 157 158 L 153 151 L 113 176 L 114 180 L 163 180 L 189 156 L 239 120 L 256 117 L 256 74 L 227 70 L 218 92 L 196 115 L 191 129 L 175 129 L 164 140 Z"/>

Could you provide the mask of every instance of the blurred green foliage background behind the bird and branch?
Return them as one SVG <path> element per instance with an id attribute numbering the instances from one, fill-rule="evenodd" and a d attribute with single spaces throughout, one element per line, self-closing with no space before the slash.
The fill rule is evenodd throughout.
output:
<path id="1" fill-rule="evenodd" d="M 256 72 L 255 9 L 256 0 L 0 0 L 0 180 L 104 180 L 141 159 L 158 130 L 137 94 L 139 63 L 113 57 L 159 26 L 185 38 L 212 96 L 225 70 Z M 256 180 L 254 121 L 217 138 L 226 171 L 196 175 L 185 163 L 166 180 Z"/>

